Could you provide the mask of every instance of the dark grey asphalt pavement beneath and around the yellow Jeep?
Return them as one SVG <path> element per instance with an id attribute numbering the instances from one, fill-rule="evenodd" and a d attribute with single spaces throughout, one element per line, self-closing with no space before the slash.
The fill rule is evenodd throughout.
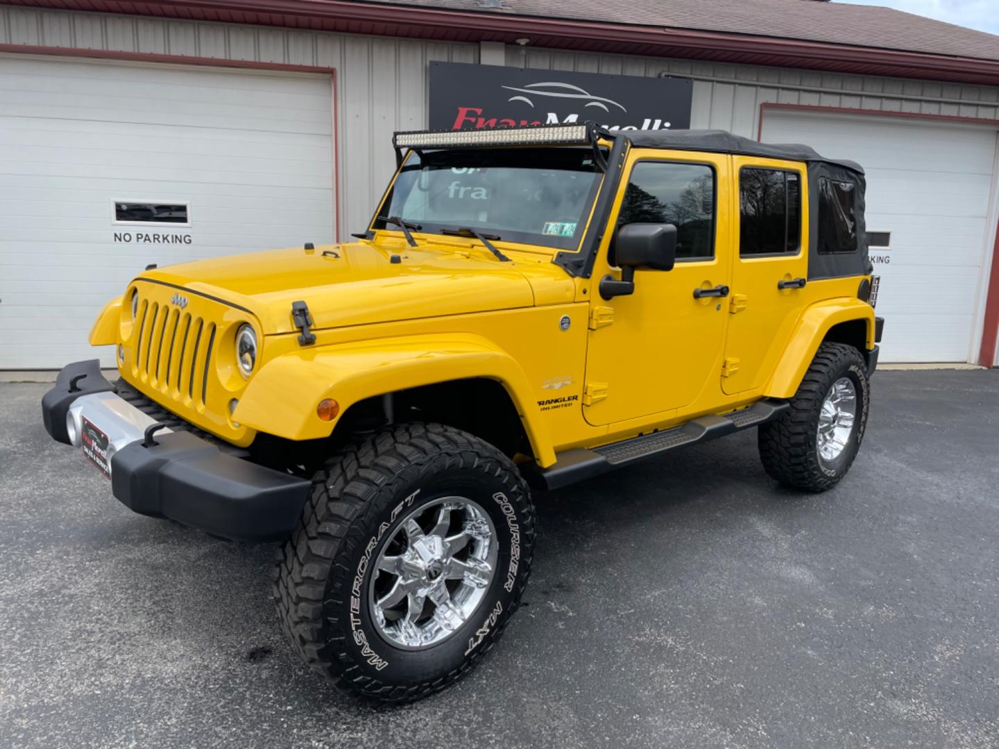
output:
<path id="1" fill-rule="evenodd" d="M 466 679 L 372 708 L 278 628 L 271 546 L 128 511 L 0 384 L 0 746 L 999 747 L 999 371 L 874 375 L 832 491 L 739 433 L 538 495 Z"/>

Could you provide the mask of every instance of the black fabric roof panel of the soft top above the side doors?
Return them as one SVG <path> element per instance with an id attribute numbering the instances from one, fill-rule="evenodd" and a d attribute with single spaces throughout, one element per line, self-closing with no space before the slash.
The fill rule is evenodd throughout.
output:
<path id="1" fill-rule="evenodd" d="M 787 159 L 811 164 L 834 164 L 857 174 L 863 168 L 852 161 L 826 159 L 815 149 L 794 143 L 757 143 L 748 138 L 732 135 L 724 130 L 626 130 L 614 132 L 624 136 L 639 148 L 670 148 L 682 151 L 709 151 L 738 156 L 760 156 L 768 159 Z"/>

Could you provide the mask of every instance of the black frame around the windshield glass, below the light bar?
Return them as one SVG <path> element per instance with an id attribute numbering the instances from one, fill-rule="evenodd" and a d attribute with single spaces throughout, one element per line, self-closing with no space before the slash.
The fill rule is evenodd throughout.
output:
<path id="1" fill-rule="evenodd" d="M 605 156 L 604 150 L 604 156 Z M 435 169 L 448 168 L 470 168 L 470 169 L 546 169 L 564 170 L 577 174 L 591 174 L 592 180 L 583 197 L 578 216 L 574 214 L 577 225 L 576 231 L 570 237 L 554 234 L 544 234 L 542 232 L 523 232 L 509 227 L 497 226 L 490 222 L 470 222 L 468 218 L 456 216 L 449 220 L 434 221 L 425 217 L 411 217 L 402 215 L 404 221 L 413 222 L 421 226 L 422 234 L 444 235 L 443 230 L 454 230 L 458 227 L 469 227 L 484 234 L 496 234 L 500 236 L 500 242 L 510 242 L 522 245 L 537 247 L 544 252 L 570 251 L 577 252 L 583 242 L 586 228 L 593 213 L 600 185 L 603 182 L 604 173 L 601 165 L 593 159 L 593 149 L 591 147 L 579 146 L 540 146 L 540 147 L 518 147 L 518 148 L 496 148 L 484 147 L 482 149 L 435 149 L 410 151 L 396 172 L 392 183 L 379 205 L 379 210 L 375 213 L 370 231 L 394 231 L 392 226 L 388 226 L 380 216 L 388 216 L 390 209 L 397 213 L 402 212 L 402 208 L 394 204 L 397 188 L 400 180 L 406 179 L 407 174 L 419 173 L 425 166 Z M 410 186 L 407 192 L 416 189 Z"/>

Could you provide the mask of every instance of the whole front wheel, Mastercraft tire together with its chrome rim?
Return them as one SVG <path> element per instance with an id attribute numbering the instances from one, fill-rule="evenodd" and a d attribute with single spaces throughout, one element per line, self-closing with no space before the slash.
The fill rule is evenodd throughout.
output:
<path id="1" fill-rule="evenodd" d="M 396 426 L 316 474 L 277 568 L 278 612 L 341 689 L 418 699 L 497 641 L 533 536 L 527 487 L 499 450 L 449 426 Z"/>

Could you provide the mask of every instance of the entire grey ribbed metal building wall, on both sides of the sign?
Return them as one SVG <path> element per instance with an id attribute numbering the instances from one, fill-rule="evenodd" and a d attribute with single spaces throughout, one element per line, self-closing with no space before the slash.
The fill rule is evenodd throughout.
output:
<path id="1" fill-rule="evenodd" d="M 364 227 L 392 173 L 393 131 L 427 122 L 427 63 L 480 60 L 476 44 L 2 5 L 0 44 L 335 68 L 342 236 Z M 999 89 L 990 87 L 512 45 L 504 59 L 536 69 L 692 78 L 692 127 L 748 137 L 756 136 L 764 102 L 999 118 Z"/>

